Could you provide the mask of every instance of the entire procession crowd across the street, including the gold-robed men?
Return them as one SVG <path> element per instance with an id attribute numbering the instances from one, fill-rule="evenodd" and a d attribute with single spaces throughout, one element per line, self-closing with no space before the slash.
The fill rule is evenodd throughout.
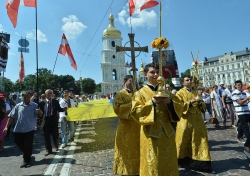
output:
<path id="1" fill-rule="evenodd" d="M 168 96 L 159 97 L 159 66 L 146 65 L 144 74 L 145 86 L 134 92 L 133 77 L 126 75 L 124 88 L 114 96 L 78 96 L 64 90 L 57 99 L 51 89 L 39 97 L 31 91 L 24 92 L 22 100 L 16 94 L 10 98 L 0 94 L 0 152 L 4 152 L 4 140 L 12 131 L 15 144 L 23 152 L 20 167 L 29 165 L 35 127 L 42 129 L 45 156 L 53 153 L 52 146 L 59 150 L 59 134 L 61 147 L 65 148 L 74 141 L 75 130 L 75 122 L 67 120 L 67 109 L 90 99 L 109 98 L 119 117 L 114 174 L 179 175 L 178 167 L 216 173 L 211 166 L 206 112 L 216 128 L 225 127 L 227 121 L 231 128 L 237 128 L 236 140 L 244 143 L 244 153 L 250 158 L 250 84 L 246 90 L 240 80 L 235 82 L 234 90 L 223 83 L 196 90 L 191 78 L 184 77 L 183 88 L 171 90 L 166 84 L 164 92 Z"/>

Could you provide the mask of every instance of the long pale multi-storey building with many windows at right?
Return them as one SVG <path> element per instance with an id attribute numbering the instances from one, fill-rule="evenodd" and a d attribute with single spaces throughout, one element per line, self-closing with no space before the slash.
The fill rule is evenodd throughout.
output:
<path id="1" fill-rule="evenodd" d="M 199 62 L 198 73 L 203 87 L 224 84 L 234 85 L 236 80 L 250 82 L 250 50 L 225 53 Z M 194 70 L 191 69 L 191 75 Z"/>

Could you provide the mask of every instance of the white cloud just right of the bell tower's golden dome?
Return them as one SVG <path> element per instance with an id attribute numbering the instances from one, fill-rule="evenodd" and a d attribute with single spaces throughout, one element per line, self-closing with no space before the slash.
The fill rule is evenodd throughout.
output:
<path id="1" fill-rule="evenodd" d="M 130 17 L 127 10 L 122 10 L 118 14 L 118 21 L 122 25 L 130 25 Z M 131 17 L 131 24 L 133 28 L 147 27 L 148 29 L 157 26 L 157 15 L 154 10 L 136 11 Z"/>

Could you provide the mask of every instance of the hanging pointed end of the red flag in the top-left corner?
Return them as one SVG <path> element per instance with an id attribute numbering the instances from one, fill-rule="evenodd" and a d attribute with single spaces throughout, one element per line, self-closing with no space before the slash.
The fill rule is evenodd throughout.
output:
<path id="1" fill-rule="evenodd" d="M 16 27 L 16 23 L 17 23 L 19 4 L 20 4 L 20 0 L 7 0 L 5 4 L 5 7 L 7 9 L 7 14 L 14 28 Z"/>

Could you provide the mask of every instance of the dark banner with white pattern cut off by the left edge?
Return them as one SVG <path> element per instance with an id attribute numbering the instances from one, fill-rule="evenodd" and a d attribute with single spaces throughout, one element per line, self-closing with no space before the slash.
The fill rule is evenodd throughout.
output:
<path id="1" fill-rule="evenodd" d="M 5 40 L 5 36 L 0 35 L 0 71 L 5 72 L 8 62 L 8 49 L 9 47 Z"/>

